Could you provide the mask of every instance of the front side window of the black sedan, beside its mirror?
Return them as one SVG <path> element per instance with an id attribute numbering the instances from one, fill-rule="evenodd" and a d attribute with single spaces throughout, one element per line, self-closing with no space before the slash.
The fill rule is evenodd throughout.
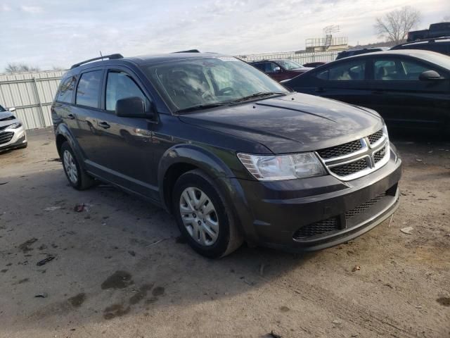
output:
<path id="1" fill-rule="evenodd" d="M 418 81 L 420 73 L 431 70 L 422 63 L 399 59 L 377 60 L 373 66 L 375 80 L 379 81 Z"/>

